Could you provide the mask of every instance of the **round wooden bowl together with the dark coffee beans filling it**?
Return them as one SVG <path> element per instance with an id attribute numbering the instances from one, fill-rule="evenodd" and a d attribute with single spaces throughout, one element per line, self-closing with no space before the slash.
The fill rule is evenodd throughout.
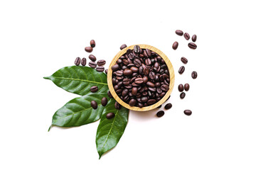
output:
<path id="1" fill-rule="evenodd" d="M 132 45 L 119 52 L 108 69 L 108 86 L 122 106 L 149 111 L 160 106 L 174 87 L 174 69 L 163 52 Z"/>

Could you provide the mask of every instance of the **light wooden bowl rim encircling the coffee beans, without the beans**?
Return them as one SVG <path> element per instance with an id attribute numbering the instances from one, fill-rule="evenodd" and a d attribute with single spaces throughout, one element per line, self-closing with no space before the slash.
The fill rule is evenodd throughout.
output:
<path id="1" fill-rule="evenodd" d="M 172 66 L 169 58 L 164 55 L 163 52 L 161 52 L 160 50 L 158 50 L 156 47 L 152 47 L 150 45 L 139 45 L 140 48 L 142 49 L 149 49 L 151 51 L 154 51 L 156 52 L 156 54 L 160 55 L 162 57 L 162 59 L 166 62 L 166 65 L 169 69 L 169 76 L 170 76 L 170 84 L 169 84 L 169 91 L 167 91 L 166 95 L 161 98 L 160 101 L 158 101 L 157 103 L 154 103 L 154 105 L 151 105 L 151 106 L 146 106 L 146 107 L 143 107 L 143 108 L 139 108 L 139 107 L 136 107 L 136 106 L 129 106 L 129 104 L 125 103 L 124 101 L 122 101 L 121 98 L 119 98 L 119 96 L 117 96 L 116 92 L 114 91 L 114 87 L 113 87 L 113 84 L 112 84 L 112 69 L 111 67 L 117 62 L 117 60 L 119 59 L 119 57 L 121 57 L 122 55 L 124 55 L 124 53 L 127 52 L 128 49 L 131 49 L 133 50 L 134 49 L 134 46 L 135 45 L 131 45 L 129 47 L 126 47 L 124 48 L 123 50 L 121 50 L 120 52 L 117 53 L 117 55 L 114 57 L 114 59 L 112 60 L 112 62 L 110 63 L 110 67 L 108 69 L 108 72 L 107 72 L 107 84 L 109 86 L 109 89 L 110 89 L 110 93 L 112 94 L 112 96 L 114 97 L 114 99 L 119 103 L 121 104 L 122 106 L 124 106 L 125 108 L 128 108 L 129 110 L 132 110 L 132 111 L 150 111 L 154 108 L 157 108 L 158 106 L 160 106 L 161 104 L 163 104 L 167 98 L 169 98 L 169 96 L 171 95 L 171 91 L 174 89 L 174 79 L 175 79 L 175 76 L 174 76 L 174 67 Z"/>

